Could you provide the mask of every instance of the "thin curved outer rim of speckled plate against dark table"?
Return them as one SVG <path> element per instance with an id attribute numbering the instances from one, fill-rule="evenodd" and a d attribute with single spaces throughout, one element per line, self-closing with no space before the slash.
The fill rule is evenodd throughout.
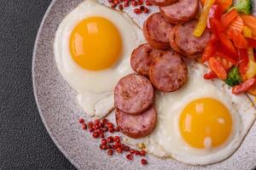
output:
<path id="1" fill-rule="evenodd" d="M 40 108 L 40 105 L 39 105 L 39 102 L 38 102 L 38 94 L 37 94 L 37 88 L 36 88 L 36 82 L 35 82 L 35 78 L 34 78 L 34 68 L 35 68 L 35 57 L 36 57 L 36 54 L 37 54 L 37 48 L 38 48 L 38 39 L 41 35 L 41 32 L 43 30 L 43 27 L 44 27 L 44 24 L 45 24 L 45 20 L 47 19 L 48 15 L 49 15 L 49 12 L 51 11 L 52 7 L 55 5 L 55 3 L 57 2 L 57 0 L 53 0 L 50 4 L 49 4 L 49 7 L 47 8 L 45 14 L 44 14 L 44 17 L 43 17 L 43 20 L 39 26 L 39 29 L 38 29 L 38 34 L 37 34 L 37 37 L 36 37 L 36 40 L 35 40 L 35 44 L 34 44 L 34 48 L 33 48 L 33 54 L 32 54 L 32 87 L 33 87 L 33 93 L 34 93 L 34 96 L 35 96 L 35 100 L 36 100 L 36 104 L 38 106 L 38 112 L 39 112 L 39 115 L 42 119 L 42 122 L 44 123 L 44 127 L 46 128 L 47 132 L 49 133 L 49 137 L 54 141 L 55 145 L 57 146 L 57 148 L 59 150 L 61 150 L 61 153 L 66 156 L 67 160 L 70 161 L 74 167 L 76 167 L 77 169 L 79 169 L 79 163 L 74 161 L 72 156 L 70 156 L 66 150 L 64 150 L 61 146 L 61 144 L 59 143 L 59 141 L 55 138 L 55 135 L 53 133 L 51 133 L 47 123 L 45 122 L 44 120 L 44 115 L 42 113 L 42 110 Z"/>

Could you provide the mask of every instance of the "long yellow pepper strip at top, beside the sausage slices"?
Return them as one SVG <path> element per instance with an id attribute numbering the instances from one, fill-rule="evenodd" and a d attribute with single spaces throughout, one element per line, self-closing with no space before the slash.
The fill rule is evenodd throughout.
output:
<path id="1" fill-rule="evenodd" d="M 197 26 L 195 27 L 195 30 L 193 32 L 195 37 L 201 37 L 202 33 L 205 31 L 207 27 L 208 15 L 213 3 L 215 3 L 215 0 L 206 0 Z"/>

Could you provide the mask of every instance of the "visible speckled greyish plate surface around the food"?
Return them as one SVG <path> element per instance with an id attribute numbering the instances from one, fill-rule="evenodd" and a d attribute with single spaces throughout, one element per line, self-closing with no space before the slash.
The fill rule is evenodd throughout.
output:
<path id="1" fill-rule="evenodd" d="M 138 158 L 126 161 L 125 155 L 109 157 L 98 150 L 98 141 L 91 139 L 89 133 L 81 130 L 79 116 L 85 116 L 76 103 L 73 90 L 63 80 L 55 66 L 53 43 L 55 31 L 61 20 L 83 0 L 54 0 L 44 16 L 36 40 L 32 77 L 38 111 L 49 135 L 55 144 L 67 156 L 67 159 L 78 169 L 195 169 L 195 170 L 247 170 L 256 167 L 256 124 L 254 123 L 240 148 L 229 159 L 208 166 L 191 166 L 175 160 L 160 160 L 148 156 L 150 162 L 143 167 Z M 107 0 L 100 0 L 101 3 Z M 156 8 L 151 8 L 154 13 Z M 139 26 L 147 14 L 132 13 L 131 8 L 125 8 Z"/>

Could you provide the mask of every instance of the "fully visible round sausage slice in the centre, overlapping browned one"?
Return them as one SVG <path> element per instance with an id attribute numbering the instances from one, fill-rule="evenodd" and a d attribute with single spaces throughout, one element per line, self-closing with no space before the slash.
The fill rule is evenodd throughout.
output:
<path id="1" fill-rule="evenodd" d="M 181 55 L 166 51 L 150 66 L 149 77 L 155 88 L 174 92 L 188 80 L 188 68 Z"/>

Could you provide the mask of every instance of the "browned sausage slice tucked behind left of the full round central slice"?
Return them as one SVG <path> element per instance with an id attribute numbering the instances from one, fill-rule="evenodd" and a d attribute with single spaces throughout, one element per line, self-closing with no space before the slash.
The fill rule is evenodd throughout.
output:
<path id="1" fill-rule="evenodd" d="M 131 54 L 131 67 L 138 74 L 148 76 L 150 65 L 162 53 L 162 50 L 152 48 L 148 43 L 144 43 L 133 50 Z"/>

